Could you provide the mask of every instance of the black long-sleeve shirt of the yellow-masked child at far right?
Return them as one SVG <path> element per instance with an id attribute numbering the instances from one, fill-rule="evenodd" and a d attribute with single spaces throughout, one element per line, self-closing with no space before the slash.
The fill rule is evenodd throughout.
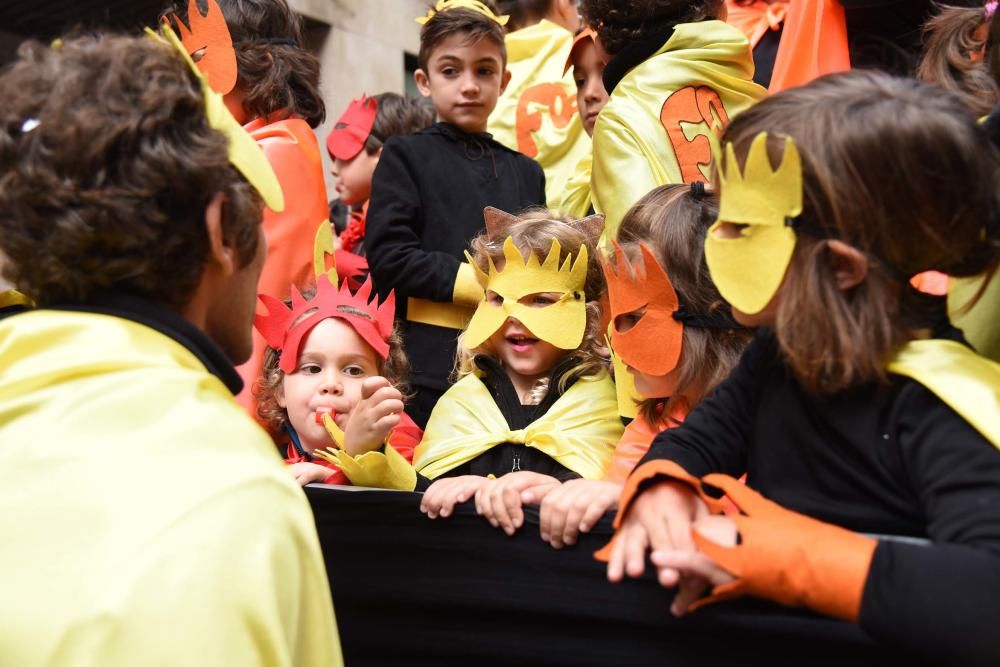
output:
<path id="1" fill-rule="evenodd" d="M 942 664 L 1000 664 L 1000 451 L 915 380 L 820 398 L 761 330 L 729 379 L 656 437 L 652 459 L 696 476 L 746 472 L 790 510 L 929 539 L 879 542 L 862 629 Z"/>

